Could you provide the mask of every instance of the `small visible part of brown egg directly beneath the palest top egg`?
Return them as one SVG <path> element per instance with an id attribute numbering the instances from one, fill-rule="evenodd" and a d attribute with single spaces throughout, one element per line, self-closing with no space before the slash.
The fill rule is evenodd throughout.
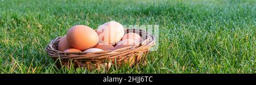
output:
<path id="1" fill-rule="evenodd" d="M 102 50 L 114 50 L 115 49 L 115 47 L 113 45 L 110 45 L 105 42 L 101 42 L 101 43 L 97 44 L 96 46 L 94 46 L 94 48 L 98 48 L 98 49 L 102 49 Z"/>

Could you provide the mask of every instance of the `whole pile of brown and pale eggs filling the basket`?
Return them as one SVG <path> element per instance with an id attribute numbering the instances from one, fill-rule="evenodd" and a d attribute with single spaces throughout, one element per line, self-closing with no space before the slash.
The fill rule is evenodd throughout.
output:
<path id="1" fill-rule="evenodd" d="M 61 37 L 57 49 L 61 52 L 100 52 L 137 45 L 142 37 L 137 33 L 127 33 L 122 24 L 107 22 L 97 31 L 86 25 L 75 25 Z"/>

